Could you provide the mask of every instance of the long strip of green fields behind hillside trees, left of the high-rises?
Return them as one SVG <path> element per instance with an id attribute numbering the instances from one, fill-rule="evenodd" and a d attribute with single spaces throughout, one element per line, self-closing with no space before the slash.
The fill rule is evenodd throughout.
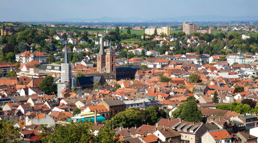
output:
<path id="1" fill-rule="evenodd" d="M 25 27 L 25 28 L 37 28 L 37 29 L 44 29 L 46 27 L 37 27 L 37 26 L 32 26 L 32 27 Z M 93 32 L 93 33 L 97 33 L 97 32 L 103 32 L 106 29 L 105 28 L 92 28 L 92 29 L 88 29 L 88 28 L 79 28 L 79 27 L 47 27 L 48 29 L 56 29 L 56 30 L 61 30 L 61 31 L 88 31 L 88 32 Z M 108 29 L 109 31 L 115 31 L 115 29 Z M 120 29 L 120 31 L 123 31 L 124 33 L 126 33 L 127 29 Z M 144 30 L 130 30 L 131 34 L 143 34 Z"/>

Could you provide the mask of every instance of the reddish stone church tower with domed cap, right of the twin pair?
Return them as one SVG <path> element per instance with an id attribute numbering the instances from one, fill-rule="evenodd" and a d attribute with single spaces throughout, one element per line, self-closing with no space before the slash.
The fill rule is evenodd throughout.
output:
<path id="1" fill-rule="evenodd" d="M 106 73 L 111 73 L 116 79 L 116 54 L 111 44 L 106 54 Z"/>

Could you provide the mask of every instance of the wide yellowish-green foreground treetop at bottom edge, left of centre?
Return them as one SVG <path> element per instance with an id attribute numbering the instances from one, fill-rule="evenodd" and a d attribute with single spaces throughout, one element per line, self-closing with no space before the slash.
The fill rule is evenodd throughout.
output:
<path id="1" fill-rule="evenodd" d="M 42 126 L 40 139 L 42 142 L 95 142 L 91 123 L 70 122 L 65 126 L 58 125 L 52 127 L 53 132 L 49 132 L 46 126 Z"/>

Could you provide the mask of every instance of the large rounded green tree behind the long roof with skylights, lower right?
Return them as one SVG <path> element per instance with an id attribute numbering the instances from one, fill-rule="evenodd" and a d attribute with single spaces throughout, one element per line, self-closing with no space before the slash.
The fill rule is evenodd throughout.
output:
<path id="1" fill-rule="evenodd" d="M 180 118 L 188 122 L 201 122 L 202 113 L 193 100 L 180 104 L 178 109 L 172 112 L 173 118 Z"/>

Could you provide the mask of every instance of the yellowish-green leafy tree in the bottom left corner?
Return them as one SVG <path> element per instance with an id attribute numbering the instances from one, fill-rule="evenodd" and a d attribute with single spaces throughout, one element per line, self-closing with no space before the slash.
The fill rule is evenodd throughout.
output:
<path id="1" fill-rule="evenodd" d="M 19 128 L 13 126 L 13 122 L 0 120 L 0 142 L 18 142 Z"/>

